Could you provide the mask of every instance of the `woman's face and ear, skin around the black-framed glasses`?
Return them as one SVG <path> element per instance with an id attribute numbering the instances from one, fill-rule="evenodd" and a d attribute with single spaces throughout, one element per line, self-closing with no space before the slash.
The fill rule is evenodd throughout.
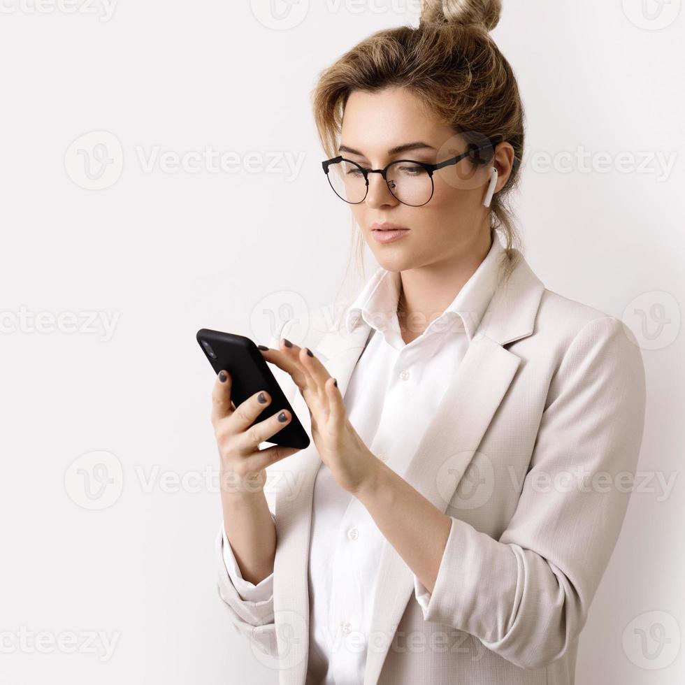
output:
<path id="1" fill-rule="evenodd" d="M 424 145 L 389 154 L 408 143 Z M 396 159 L 435 164 L 462 154 L 466 141 L 452 127 L 435 122 L 421 103 L 405 89 L 378 93 L 354 91 L 345 106 L 340 154 L 364 168 L 382 169 Z M 504 147 L 509 147 L 507 152 Z M 354 150 L 355 152 L 352 152 Z M 500 143 L 496 164 L 500 178 L 496 190 L 505 184 L 513 160 L 513 148 Z M 503 164 L 498 163 L 498 159 Z M 492 165 L 475 169 L 468 159 L 456 166 L 435 171 L 431 201 L 412 207 L 398 201 L 380 173 L 368 175 L 368 195 L 350 204 L 354 219 L 380 266 L 404 271 L 428 264 L 459 259 L 480 252 L 490 244 L 489 210 L 483 206 Z M 389 222 L 410 229 L 391 243 L 380 243 L 372 225 Z"/>

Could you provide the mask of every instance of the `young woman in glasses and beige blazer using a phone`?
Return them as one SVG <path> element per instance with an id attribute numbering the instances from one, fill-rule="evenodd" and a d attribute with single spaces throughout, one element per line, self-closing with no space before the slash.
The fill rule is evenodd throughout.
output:
<path id="1" fill-rule="evenodd" d="M 644 370 L 620 319 L 546 289 L 517 247 L 499 15 L 424 3 L 315 89 L 331 201 L 379 267 L 344 325 L 321 308 L 261 346 L 310 447 L 260 450 L 289 412 L 250 427 L 268 394 L 234 407 L 225 372 L 213 390 L 219 593 L 282 683 L 574 682 Z"/>

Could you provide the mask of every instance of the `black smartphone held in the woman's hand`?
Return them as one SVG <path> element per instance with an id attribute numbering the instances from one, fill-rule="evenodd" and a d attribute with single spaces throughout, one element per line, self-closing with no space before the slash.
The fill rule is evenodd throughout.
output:
<path id="1" fill-rule="evenodd" d="M 209 329 L 200 329 L 196 338 L 215 373 L 223 369 L 231 374 L 231 400 L 236 407 L 260 390 L 266 390 L 271 395 L 271 403 L 254 420 L 255 424 L 284 409 L 290 412 L 290 423 L 264 442 L 297 449 L 309 446 L 307 431 L 268 368 L 266 359 L 250 338 Z"/>

